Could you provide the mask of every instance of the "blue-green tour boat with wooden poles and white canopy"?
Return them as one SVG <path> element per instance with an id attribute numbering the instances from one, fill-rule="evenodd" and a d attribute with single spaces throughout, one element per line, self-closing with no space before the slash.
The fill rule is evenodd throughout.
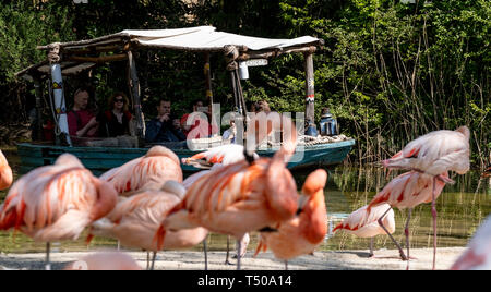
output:
<path id="1" fill-rule="evenodd" d="M 246 100 L 240 81 L 247 78 L 248 66 L 267 65 L 268 60 L 286 53 L 303 53 L 306 68 L 306 135 L 318 136 L 314 123 L 314 81 L 313 53 L 320 49 L 323 40 L 310 36 L 294 39 L 268 39 L 217 32 L 213 26 L 199 26 L 173 29 L 123 31 L 89 40 L 55 42 L 38 46 L 47 51 L 47 59 L 19 72 L 16 76 L 34 82 L 36 87 L 37 131 L 41 136 L 43 120 L 41 100 L 43 84 L 49 81 L 48 93 L 51 100 L 51 111 L 56 121 L 57 138 L 55 144 L 43 141 L 21 143 L 17 145 L 21 158 L 21 173 L 34 168 L 51 165 L 63 153 L 70 153 L 81 159 L 86 168 L 95 174 L 100 174 L 111 168 L 119 167 L 136 157 L 141 157 L 152 145 L 144 143 L 144 115 L 140 98 L 140 81 L 136 71 L 134 52 L 145 48 L 178 51 L 194 51 L 204 56 L 205 93 L 209 105 L 213 101 L 211 82 L 211 53 L 223 53 L 226 70 L 231 76 L 231 87 L 236 101 L 236 113 L 246 117 Z M 73 143 L 68 134 L 67 104 L 64 98 L 63 77 L 86 74 L 99 64 L 116 61 L 128 61 L 132 109 L 135 117 L 134 137 L 136 147 L 83 147 Z M 344 161 L 355 145 L 355 139 L 344 138 L 330 143 L 302 145 L 303 157 L 290 161 L 288 168 L 331 167 Z M 166 145 L 165 145 L 166 146 Z M 203 149 L 182 149 L 168 146 L 179 158 L 187 158 Z M 204 148 L 205 149 L 205 148 Z M 271 157 L 275 149 L 256 151 L 260 156 Z M 182 165 L 184 172 L 195 172 L 200 169 Z"/>

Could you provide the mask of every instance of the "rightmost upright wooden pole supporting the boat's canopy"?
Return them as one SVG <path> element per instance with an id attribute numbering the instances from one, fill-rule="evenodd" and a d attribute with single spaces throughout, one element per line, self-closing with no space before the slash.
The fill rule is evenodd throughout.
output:
<path id="1" fill-rule="evenodd" d="M 315 108 L 314 108 L 314 70 L 313 70 L 313 51 L 304 52 L 306 66 L 306 135 L 316 136 L 315 127 Z"/>

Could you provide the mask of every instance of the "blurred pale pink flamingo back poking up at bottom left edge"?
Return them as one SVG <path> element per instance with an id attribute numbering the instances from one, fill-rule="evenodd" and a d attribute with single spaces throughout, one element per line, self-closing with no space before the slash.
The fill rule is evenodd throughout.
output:
<path id="1" fill-rule="evenodd" d="M 97 253 L 84 256 L 67 265 L 64 270 L 141 270 L 129 255 L 123 253 Z"/>

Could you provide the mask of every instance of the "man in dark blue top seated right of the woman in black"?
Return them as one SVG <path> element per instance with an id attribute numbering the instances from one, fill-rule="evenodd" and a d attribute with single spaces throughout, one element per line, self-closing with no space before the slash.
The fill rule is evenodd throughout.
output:
<path id="1" fill-rule="evenodd" d="M 185 139 L 184 134 L 172 124 L 170 101 L 160 100 L 157 106 L 157 118 L 146 124 L 145 139 L 147 143 L 180 142 Z"/>

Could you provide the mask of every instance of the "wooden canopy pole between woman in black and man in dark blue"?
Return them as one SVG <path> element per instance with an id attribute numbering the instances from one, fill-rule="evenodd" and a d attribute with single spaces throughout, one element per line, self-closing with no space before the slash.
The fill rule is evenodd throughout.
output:
<path id="1" fill-rule="evenodd" d="M 136 63 L 134 61 L 133 52 L 129 50 L 128 52 L 128 68 L 129 68 L 129 86 L 130 93 L 133 100 L 134 115 L 136 118 L 136 135 L 139 137 L 139 147 L 145 141 L 144 132 L 144 120 L 142 112 L 142 102 L 140 100 L 140 80 L 136 72 Z"/>

